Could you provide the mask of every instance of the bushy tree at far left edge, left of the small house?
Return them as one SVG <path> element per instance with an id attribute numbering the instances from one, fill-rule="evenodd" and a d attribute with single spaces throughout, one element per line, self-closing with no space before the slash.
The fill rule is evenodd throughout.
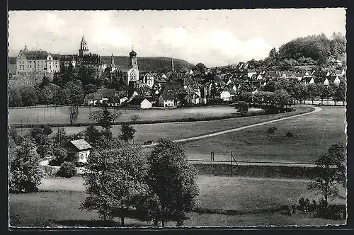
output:
<path id="1" fill-rule="evenodd" d="M 31 193 L 38 190 L 42 171 L 40 157 L 35 151 L 35 144 L 25 139 L 20 147 L 11 151 L 10 190 L 18 193 Z"/>

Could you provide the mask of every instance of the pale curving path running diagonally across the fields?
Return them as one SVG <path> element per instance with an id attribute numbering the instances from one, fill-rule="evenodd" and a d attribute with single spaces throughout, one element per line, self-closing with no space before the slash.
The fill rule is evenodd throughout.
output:
<path id="1" fill-rule="evenodd" d="M 258 127 L 258 126 L 261 126 L 261 125 L 266 125 L 266 124 L 273 123 L 273 122 L 280 122 L 280 121 L 287 120 L 287 119 L 294 118 L 294 117 L 302 117 L 304 115 L 310 115 L 312 113 L 318 113 L 321 110 L 322 109 L 319 108 L 319 107 L 314 107 L 314 110 L 312 110 L 309 113 L 297 114 L 297 115 L 293 115 L 293 116 L 290 116 L 290 117 L 282 117 L 282 118 L 279 118 L 279 119 L 270 120 L 270 121 L 266 121 L 266 122 L 259 122 L 259 123 L 248 125 L 248 126 L 244 126 L 244 127 L 237 127 L 237 128 L 231 129 L 231 130 L 224 130 L 222 132 L 214 132 L 212 134 L 203 134 L 203 135 L 200 135 L 198 137 L 190 137 L 190 138 L 185 138 L 185 139 L 176 139 L 176 140 L 173 140 L 173 142 L 188 142 L 188 141 L 193 141 L 193 140 L 197 140 L 197 139 L 205 139 L 205 138 L 209 138 L 209 137 L 215 137 L 215 136 L 220 135 L 220 134 L 227 134 L 227 133 L 230 133 L 230 132 L 237 132 L 239 130 L 244 130 L 244 129 L 251 128 L 251 127 Z M 157 143 L 149 144 L 149 145 L 142 145 L 142 147 L 154 147 L 154 146 L 156 146 L 156 144 Z"/>

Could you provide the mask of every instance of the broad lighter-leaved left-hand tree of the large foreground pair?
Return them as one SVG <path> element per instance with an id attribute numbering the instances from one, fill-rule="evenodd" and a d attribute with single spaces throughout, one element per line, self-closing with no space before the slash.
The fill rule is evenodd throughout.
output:
<path id="1" fill-rule="evenodd" d="M 89 196 L 81 210 L 97 210 L 104 220 L 120 217 L 124 225 L 125 217 L 147 189 L 141 149 L 125 145 L 122 149 L 93 151 L 86 169 L 84 180 Z"/>

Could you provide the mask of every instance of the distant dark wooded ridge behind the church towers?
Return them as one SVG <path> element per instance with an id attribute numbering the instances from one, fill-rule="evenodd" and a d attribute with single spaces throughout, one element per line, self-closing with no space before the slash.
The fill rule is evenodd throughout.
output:
<path id="1" fill-rule="evenodd" d="M 110 56 L 101 57 L 105 64 L 110 64 Z M 9 57 L 10 64 L 16 64 L 16 57 Z M 130 67 L 130 58 L 127 56 L 115 56 L 114 62 L 116 66 L 120 66 L 122 69 Z M 139 70 L 144 71 L 157 71 L 166 72 L 171 71 L 171 58 L 170 57 L 137 57 L 139 64 Z M 173 59 L 174 67 L 177 71 L 190 70 L 194 64 L 190 64 L 183 59 Z"/>

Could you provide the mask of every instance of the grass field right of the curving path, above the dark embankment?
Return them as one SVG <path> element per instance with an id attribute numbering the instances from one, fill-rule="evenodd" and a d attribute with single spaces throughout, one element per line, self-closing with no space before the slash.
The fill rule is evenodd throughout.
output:
<path id="1" fill-rule="evenodd" d="M 321 107 L 319 113 L 254 127 L 217 137 L 183 143 L 190 159 L 229 161 L 230 151 L 239 161 L 287 161 L 313 163 L 331 144 L 346 142 L 346 109 Z M 277 127 L 268 134 L 269 127 Z M 293 132 L 295 137 L 285 137 Z"/>

